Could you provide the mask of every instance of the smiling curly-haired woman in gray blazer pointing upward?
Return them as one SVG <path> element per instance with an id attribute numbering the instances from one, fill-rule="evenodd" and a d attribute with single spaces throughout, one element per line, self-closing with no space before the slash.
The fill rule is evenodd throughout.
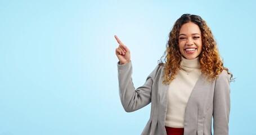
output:
<path id="1" fill-rule="evenodd" d="M 169 33 L 165 55 L 146 83 L 135 89 L 128 47 L 116 40 L 122 105 L 127 112 L 150 104 L 142 134 L 228 134 L 230 80 L 217 43 L 200 16 L 184 14 Z M 228 77 L 230 75 L 230 78 Z"/>

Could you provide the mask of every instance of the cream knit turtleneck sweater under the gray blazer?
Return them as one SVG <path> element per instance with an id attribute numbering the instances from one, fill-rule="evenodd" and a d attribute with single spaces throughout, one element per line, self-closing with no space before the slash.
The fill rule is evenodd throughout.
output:
<path id="1" fill-rule="evenodd" d="M 188 98 L 201 75 L 199 58 L 187 60 L 182 57 L 181 70 L 170 82 L 167 92 L 167 114 L 165 126 L 183 128 Z"/>

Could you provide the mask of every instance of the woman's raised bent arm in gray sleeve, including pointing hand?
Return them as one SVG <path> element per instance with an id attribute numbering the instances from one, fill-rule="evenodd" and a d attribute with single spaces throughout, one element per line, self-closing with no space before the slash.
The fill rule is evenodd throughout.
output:
<path id="1" fill-rule="evenodd" d="M 115 50 L 115 54 L 119 60 L 119 96 L 125 111 L 136 111 L 151 102 L 151 89 L 156 70 L 147 77 L 146 83 L 143 86 L 135 89 L 132 82 L 131 53 L 128 47 L 124 46 L 116 35 L 115 39 L 119 43 L 118 48 Z"/>

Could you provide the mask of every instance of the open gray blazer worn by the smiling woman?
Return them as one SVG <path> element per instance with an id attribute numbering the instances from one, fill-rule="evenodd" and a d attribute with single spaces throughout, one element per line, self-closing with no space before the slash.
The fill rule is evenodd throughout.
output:
<path id="1" fill-rule="evenodd" d="M 167 113 L 168 85 L 163 81 L 164 66 L 156 66 L 147 77 L 143 86 L 135 89 L 132 82 L 132 63 L 118 64 L 119 95 L 124 110 L 136 111 L 150 104 L 151 113 L 141 134 L 167 134 L 165 131 L 165 114 Z M 230 115 L 230 86 L 226 70 L 223 70 L 213 83 L 199 77 L 186 107 L 184 134 L 212 134 L 212 117 L 214 134 L 228 134 Z"/>

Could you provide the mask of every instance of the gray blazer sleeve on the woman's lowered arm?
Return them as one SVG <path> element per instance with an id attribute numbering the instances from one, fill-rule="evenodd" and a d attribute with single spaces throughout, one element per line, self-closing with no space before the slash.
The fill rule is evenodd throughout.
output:
<path id="1" fill-rule="evenodd" d="M 215 82 L 213 97 L 213 128 L 214 135 L 228 134 L 228 120 L 230 116 L 230 79 L 223 70 Z"/>

